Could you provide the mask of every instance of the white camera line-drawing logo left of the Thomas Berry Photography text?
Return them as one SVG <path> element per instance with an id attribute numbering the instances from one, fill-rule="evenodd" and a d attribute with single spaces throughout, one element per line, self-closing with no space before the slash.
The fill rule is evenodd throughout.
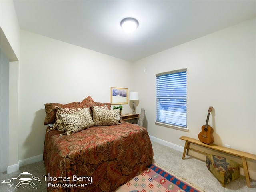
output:
<path id="1" fill-rule="evenodd" d="M 23 172 L 17 178 L 2 180 L 1 184 L 8 185 L 9 192 L 17 192 L 18 189 L 32 192 L 38 190 L 36 185 L 41 184 L 41 181 L 38 177 L 33 177 L 31 173 Z"/>

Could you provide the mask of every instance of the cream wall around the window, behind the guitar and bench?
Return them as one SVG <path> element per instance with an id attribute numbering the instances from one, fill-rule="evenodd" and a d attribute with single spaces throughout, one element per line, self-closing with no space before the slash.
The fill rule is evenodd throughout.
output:
<path id="1" fill-rule="evenodd" d="M 248 20 L 134 62 L 138 108 L 146 108 L 151 136 L 184 146 L 180 136 L 198 138 L 213 106 L 209 124 L 214 128 L 214 143 L 256 154 L 255 28 L 255 19 Z M 154 124 L 155 74 L 182 68 L 187 68 L 188 132 Z M 256 162 L 249 168 L 256 170 Z"/>

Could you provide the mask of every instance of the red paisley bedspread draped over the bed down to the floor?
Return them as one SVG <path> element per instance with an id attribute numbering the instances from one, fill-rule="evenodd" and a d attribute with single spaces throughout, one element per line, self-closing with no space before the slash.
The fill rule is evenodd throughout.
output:
<path id="1" fill-rule="evenodd" d="M 136 124 L 94 126 L 61 137 L 60 131 L 47 130 L 48 192 L 114 192 L 152 164 L 148 132 Z"/>

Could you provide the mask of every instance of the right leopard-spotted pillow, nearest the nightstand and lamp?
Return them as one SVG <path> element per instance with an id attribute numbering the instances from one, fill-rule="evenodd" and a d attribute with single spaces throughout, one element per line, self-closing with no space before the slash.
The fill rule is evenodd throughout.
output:
<path id="1" fill-rule="evenodd" d="M 94 126 L 117 125 L 120 123 L 120 109 L 104 110 L 92 106 L 92 118 Z"/>

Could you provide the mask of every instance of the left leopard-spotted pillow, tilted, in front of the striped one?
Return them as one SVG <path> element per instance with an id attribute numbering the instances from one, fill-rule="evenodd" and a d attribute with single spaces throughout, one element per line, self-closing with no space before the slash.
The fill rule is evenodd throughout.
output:
<path id="1" fill-rule="evenodd" d="M 62 121 L 65 134 L 67 135 L 71 135 L 94 125 L 89 108 L 84 108 L 70 114 L 62 113 L 60 114 L 60 120 Z"/>

